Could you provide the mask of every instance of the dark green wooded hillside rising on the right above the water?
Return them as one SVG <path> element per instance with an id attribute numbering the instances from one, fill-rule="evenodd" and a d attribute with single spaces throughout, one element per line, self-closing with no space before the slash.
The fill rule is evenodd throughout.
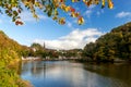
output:
<path id="1" fill-rule="evenodd" d="M 93 61 L 131 61 L 131 22 L 87 44 L 83 55 Z"/>

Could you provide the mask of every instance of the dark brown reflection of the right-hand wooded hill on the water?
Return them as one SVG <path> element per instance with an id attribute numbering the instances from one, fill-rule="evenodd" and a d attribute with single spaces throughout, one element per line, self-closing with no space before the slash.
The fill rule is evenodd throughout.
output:
<path id="1" fill-rule="evenodd" d="M 117 78 L 131 86 L 130 64 L 84 64 L 84 69 L 106 77 Z"/>

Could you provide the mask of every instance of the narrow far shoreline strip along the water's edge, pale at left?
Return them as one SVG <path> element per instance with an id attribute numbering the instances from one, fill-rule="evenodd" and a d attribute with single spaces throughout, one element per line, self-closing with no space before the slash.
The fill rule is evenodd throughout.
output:
<path id="1" fill-rule="evenodd" d="M 96 62 L 96 63 L 129 63 L 131 61 L 127 61 L 127 60 L 120 60 L 120 59 L 116 59 L 114 61 L 94 61 L 94 60 L 87 60 L 87 59 L 80 59 L 80 58 L 39 58 L 39 57 L 26 57 L 26 58 L 23 58 L 22 57 L 22 61 L 76 61 L 76 62 L 82 62 L 82 63 L 86 63 L 86 62 Z"/>

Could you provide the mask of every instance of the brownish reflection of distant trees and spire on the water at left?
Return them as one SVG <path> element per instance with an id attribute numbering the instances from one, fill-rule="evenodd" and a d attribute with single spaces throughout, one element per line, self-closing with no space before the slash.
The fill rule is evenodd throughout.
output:
<path id="1" fill-rule="evenodd" d="M 46 73 L 52 71 L 56 65 L 43 61 L 24 61 L 22 62 L 22 73 L 31 73 L 33 76 L 46 76 Z"/>

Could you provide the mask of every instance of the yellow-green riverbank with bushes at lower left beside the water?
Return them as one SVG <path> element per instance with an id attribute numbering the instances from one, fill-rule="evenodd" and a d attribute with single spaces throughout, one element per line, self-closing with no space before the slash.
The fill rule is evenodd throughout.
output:
<path id="1" fill-rule="evenodd" d="M 9 64 L 0 61 L 0 87 L 33 87 L 33 85 L 20 77 L 19 71 L 20 67 L 19 59 L 10 61 Z"/>

